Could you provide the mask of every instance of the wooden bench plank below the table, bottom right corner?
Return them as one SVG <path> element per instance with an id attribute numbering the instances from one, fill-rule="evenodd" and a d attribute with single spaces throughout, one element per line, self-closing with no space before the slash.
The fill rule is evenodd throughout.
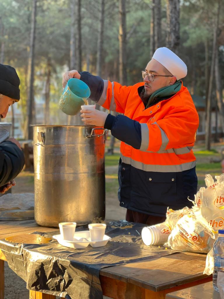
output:
<path id="1" fill-rule="evenodd" d="M 220 299 L 219 292 L 214 291 L 212 282 L 202 283 L 184 290 L 166 295 L 166 299 Z"/>

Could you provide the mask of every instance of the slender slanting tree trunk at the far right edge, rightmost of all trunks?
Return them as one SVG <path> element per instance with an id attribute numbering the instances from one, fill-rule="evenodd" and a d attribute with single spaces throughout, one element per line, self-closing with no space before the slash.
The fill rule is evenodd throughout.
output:
<path id="1" fill-rule="evenodd" d="M 224 103 L 223 103 L 223 91 L 221 86 L 221 77 L 220 77 L 220 69 L 219 69 L 219 49 L 216 47 L 216 55 L 215 55 L 215 83 L 216 83 L 216 98 L 217 98 L 217 106 L 219 108 L 219 115 L 221 120 L 222 131 L 224 132 Z"/>

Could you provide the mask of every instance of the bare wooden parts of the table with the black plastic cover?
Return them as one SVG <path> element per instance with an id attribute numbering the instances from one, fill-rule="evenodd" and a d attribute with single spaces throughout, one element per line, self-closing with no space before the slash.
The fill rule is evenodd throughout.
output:
<path id="1" fill-rule="evenodd" d="M 34 221 L 0 222 L 0 239 L 9 236 L 50 232 L 58 229 L 37 225 Z M 1 246 L 1 244 L 0 244 Z M 103 268 L 100 283 L 103 295 L 114 299 L 165 299 L 165 295 L 212 280 L 203 274 L 205 255 L 175 253 L 137 263 Z M 4 261 L 0 249 L 0 298 L 4 298 Z M 53 295 L 30 291 L 30 299 L 55 299 Z"/>

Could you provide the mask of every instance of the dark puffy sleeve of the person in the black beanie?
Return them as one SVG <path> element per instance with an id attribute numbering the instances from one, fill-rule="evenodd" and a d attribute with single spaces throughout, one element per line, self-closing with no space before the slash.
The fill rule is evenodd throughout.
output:
<path id="1" fill-rule="evenodd" d="M 13 180 L 23 169 L 24 155 L 11 141 L 0 143 L 0 186 Z"/>

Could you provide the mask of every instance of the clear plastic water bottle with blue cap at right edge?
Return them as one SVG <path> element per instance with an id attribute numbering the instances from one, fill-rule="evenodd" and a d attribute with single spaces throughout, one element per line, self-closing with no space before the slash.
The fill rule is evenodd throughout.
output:
<path id="1" fill-rule="evenodd" d="M 218 272 L 224 272 L 224 230 L 219 230 L 218 238 L 213 244 L 214 253 L 214 271 L 213 271 L 213 288 L 215 291 L 219 292 L 217 286 L 217 276 Z"/>

